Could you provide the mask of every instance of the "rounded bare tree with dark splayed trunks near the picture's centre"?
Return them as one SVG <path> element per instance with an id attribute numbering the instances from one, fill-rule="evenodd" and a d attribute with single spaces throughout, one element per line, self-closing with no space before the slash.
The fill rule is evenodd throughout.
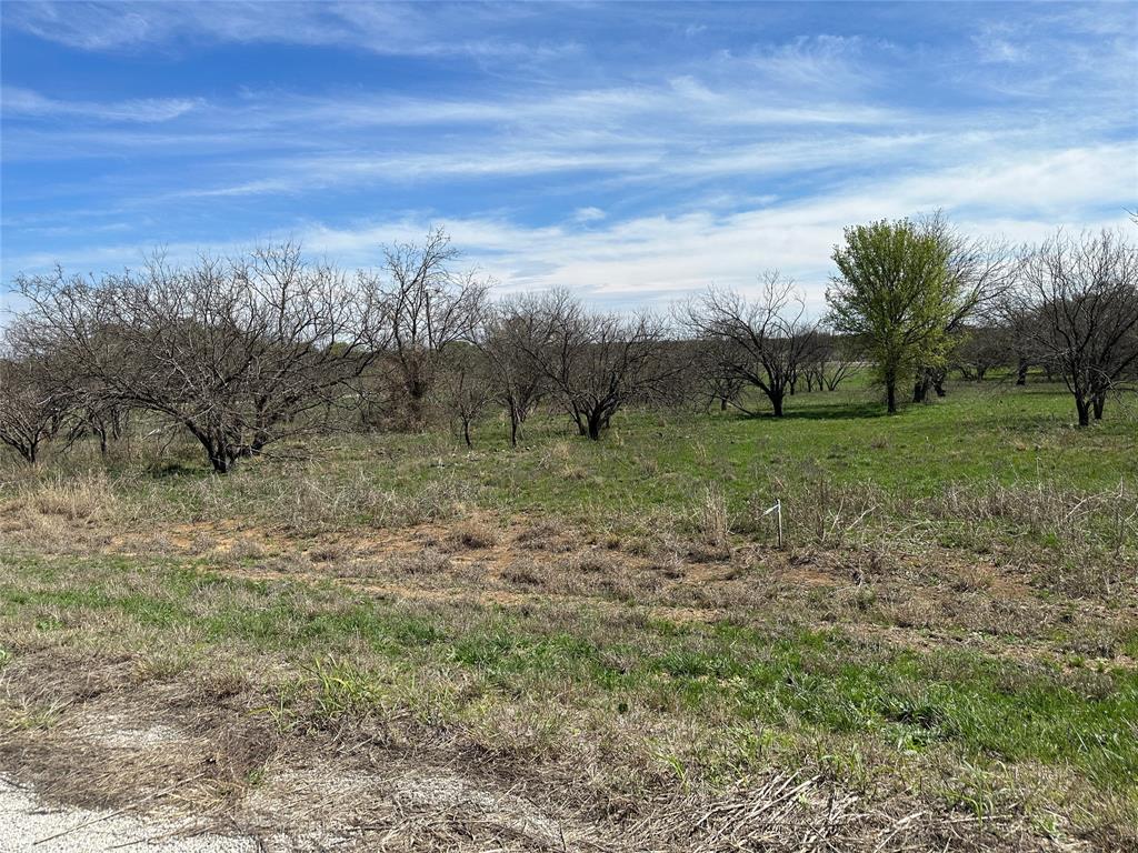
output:
<path id="1" fill-rule="evenodd" d="M 659 317 L 591 313 L 563 290 L 533 307 L 537 333 L 522 347 L 582 436 L 600 439 L 621 406 L 659 388 L 667 370 L 659 357 Z"/>

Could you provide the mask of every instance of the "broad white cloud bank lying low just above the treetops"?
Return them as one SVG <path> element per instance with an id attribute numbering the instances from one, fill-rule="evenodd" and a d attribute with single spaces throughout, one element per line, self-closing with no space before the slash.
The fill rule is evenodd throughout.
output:
<path id="1" fill-rule="evenodd" d="M 690 207 L 611 220 L 603 210 L 575 210 L 550 225 L 526 225 L 509 216 L 453 216 L 407 212 L 377 221 L 335 225 L 297 221 L 290 227 L 250 231 L 225 241 L 165 246 L 189 260 L 204 250 L 237 251 L 258 241 L 299 240 L 314 256 L 347 266 L 373 266 L 381 246 L 417 240 L 443 225 L 465 260 L 495 279 L 500 292 L 572 289 L 615 307 L 662 306 L 710 284 L 748 291 L 759 273 L 778 268 L 794 278 L 815 314 L 824 312 L 830 254 L 851 222 L 901 217 L 943 208 L 962 227 L 1033 241 L 1072 222 L 1081 226 L 1132 227 L 1125 191 L 1116 176 L 1128 167 L 1124 146 L 1021 151 L 984 167 L 942 168 L 836 184 L 824 197 L 768 199 L 743 209 Z M 1025 208 L 1020 199 L 1030 198 Z M 137 265 L 149 243 L 101 246 L 74 256 L 28 255 L 24 268 L 57 260 L 85 270 Z"/>

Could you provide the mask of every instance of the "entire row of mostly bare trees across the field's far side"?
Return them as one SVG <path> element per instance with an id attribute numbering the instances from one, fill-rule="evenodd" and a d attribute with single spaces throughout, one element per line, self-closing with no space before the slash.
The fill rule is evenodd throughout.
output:
<path id="1" fill-rule="evenodd" d="M 283 243 L 100 278 L 22 274 L 0 441 L 34 463 L 51 439 L 106 450 L 150 416 L 225 473 L 283 439 L 440 416 L 469 444 L 490 408 L 513 445 L 541 405 L 594 440 L 629 405 L 782 416 L 789 396 L 833 391 L 863 365 L 890 413 L 942 396 L 954 368 L 1008 368 L 1022 384 L 1041 367 L 1083 426 L 1136 387 L 1138 250 L 1121 232 L 1013 248 L 937 214 L 851 226 L 832 259 L 820 318 L 778 273 L 753 296 L 711 288 L 662 314 L 594 310 L 566 290 L 492 299 L 442 230 L 386 247 L 378 270 Z"/>

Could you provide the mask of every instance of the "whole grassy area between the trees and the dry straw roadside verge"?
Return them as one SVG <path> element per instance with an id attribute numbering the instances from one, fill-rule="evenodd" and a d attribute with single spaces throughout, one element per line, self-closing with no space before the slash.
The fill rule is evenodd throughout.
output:
<path id="1" fill-rule="evenodd" d="M 600 442 L 555 413 L 519 448 L 493 420 L 473 449 L 338 434 L 224 478 L 187 444 L 80 447 L 0 478 L 0 666 L 236 668 L 289 736 L 411 726 L 620 796 L 809 767 L 1129 838 L 1138 423 L 1071 408 L 958 383 L 888 416 L 855 384 L 777 420 L 621 412 Z M 240 577 L 292 572 L 323 579 Z"/>

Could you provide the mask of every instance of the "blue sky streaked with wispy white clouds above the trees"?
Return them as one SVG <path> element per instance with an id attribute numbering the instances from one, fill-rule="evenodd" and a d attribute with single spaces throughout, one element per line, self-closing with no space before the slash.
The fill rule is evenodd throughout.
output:
<path id="1" fill-rule="evenodd" d="M 368 266 L 435 223 L 503 292 L 626 306 L 777 267 L 820 307 L 850 223 L 1032 240 L 1138 207 L 1135 3 L 0 15 L 6 282 L 283 237 Z"/>

